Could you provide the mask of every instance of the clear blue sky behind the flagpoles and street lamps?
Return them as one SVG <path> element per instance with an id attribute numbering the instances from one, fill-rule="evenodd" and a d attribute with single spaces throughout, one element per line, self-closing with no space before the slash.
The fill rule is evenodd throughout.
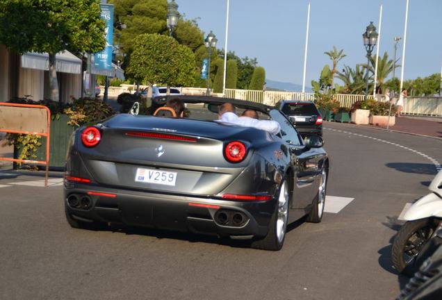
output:
<path id="1" fill-rule="evenodd" d="M 175 0 L 186 19 L 197 19 L 206 34 L 213 31 L 224 48 L 227 0 Z M 393 38 L 404 35 L 406 0 L 311 0 L 306 86 L 318 80 L 325 51 L 344 49 L 338 65 L 366 63 L 362 33 L 373 21 L 379 32 L 379 8 L 384 4 L 379 56 L 393 59 Z M 228 50 L 256 57 L 266 78 L 302 84 L 304 42 L 309 0 L 230 0 Z M 404 79 L 440 73 L 442 64 L 442 0 L 409 0 Z M 402 58 L 403 40 L 397 58 Z M 376 49 L 373 51 L 375 53 Z M 401 61 L 401 60 L 400 60 Z M 400 63 L 400 62 L 399 62 Z M 400 76 L 400 69 L 395 75 Z"/>

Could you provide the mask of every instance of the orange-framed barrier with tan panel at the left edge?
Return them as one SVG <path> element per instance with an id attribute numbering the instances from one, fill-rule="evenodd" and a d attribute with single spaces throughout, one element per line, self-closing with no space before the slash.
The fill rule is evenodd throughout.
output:
<path id="1" fill-rule="evenodd" d="M 29 108 L 31 108 L 31 110 L 29 110 Z M 46 137 L 46 160 L 20 160 L 15 158 L 0 158 L 0 160 L 13 163 L 45 165 L 46 174 L 44 176 L 44 187 L 47 187 L 47 179 L 49 176 L 50 131 L 51 111 L 46 106 L 0 102 L 0 132 L 32 134 Z"/>

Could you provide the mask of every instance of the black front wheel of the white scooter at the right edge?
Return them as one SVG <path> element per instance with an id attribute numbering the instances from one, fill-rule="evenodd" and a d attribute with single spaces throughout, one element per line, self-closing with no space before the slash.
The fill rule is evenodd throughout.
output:
<path id="1" fill-rule="evenodd" d="M 407 265 L 414 256 L 418 255 L 425 242 L 434 233 L 438 223 L 432 219 L 418 219 L 402 225 L 391 247 L 393 267 L 400 274 L 413 276 L 418 271 L 418 265 L 410 265 L 408 267 Z"/>

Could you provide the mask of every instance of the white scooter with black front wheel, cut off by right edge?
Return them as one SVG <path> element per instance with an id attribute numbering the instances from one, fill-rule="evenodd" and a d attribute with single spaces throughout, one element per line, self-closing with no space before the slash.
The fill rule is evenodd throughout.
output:
<path id="1" fill-rule="evenodd" d="M 413 276 L 442 244 L 442 170 L 428 189 L 431 193 L 416 201 L 404 214 L 407 222 L 396 234 L 391 249 L 393 266 L 407 276 Z"/>

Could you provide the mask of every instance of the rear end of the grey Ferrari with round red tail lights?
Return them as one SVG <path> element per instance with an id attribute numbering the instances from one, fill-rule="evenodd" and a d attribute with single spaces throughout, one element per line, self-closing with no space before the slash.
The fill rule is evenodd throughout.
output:
<path id="1" fill-rule="evenodd" d="M 263 237 L 277 209 L 269 135 L 216 122 L 117 115 L 72 135 L 69 224 Z"/>

